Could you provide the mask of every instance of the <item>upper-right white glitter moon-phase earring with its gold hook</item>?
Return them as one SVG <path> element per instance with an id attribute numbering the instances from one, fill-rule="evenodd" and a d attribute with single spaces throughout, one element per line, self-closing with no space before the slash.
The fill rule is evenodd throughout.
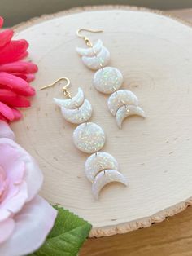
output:
<path id="1" fill-rule="evenodd" d="M 123 76 L 120 70 L 113 67 L 107 67 L 110 60 L 110 53 L 103 42 L 98 39 L 94 44 L 89 38 L 81 35 L 81 31 L 93 33 L 103 32 L 102 30 L 78 29 L 76 34 L 83 38 L 88 48 L 76 47 L 76 51 L 81 55 L 81 60 L 87 68 L 98 70 L 94 74 L 93 85 L 96 90 L 103 94 L 111 94 L 108 99 L 108 108 L 111 114 L 116 117 L 116 123 L 119 128 L 125 117 L 137 115 L 146 117 L 142 108 L 138 105 L 137 96 L 130 90 L 119 90 L 123 84 Z"/>

